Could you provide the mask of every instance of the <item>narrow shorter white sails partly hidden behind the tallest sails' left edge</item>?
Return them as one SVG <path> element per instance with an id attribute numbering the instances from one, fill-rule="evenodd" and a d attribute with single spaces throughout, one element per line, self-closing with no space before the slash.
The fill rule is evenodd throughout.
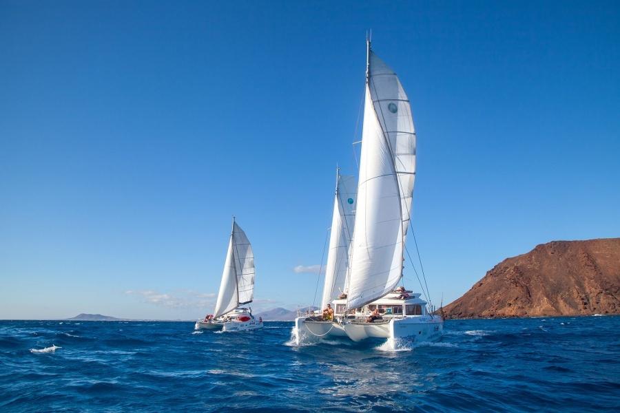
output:
<path id="1" fill-rule="evenodd" d="M 354 176 L 338 174 L 321 308 L 325 308 L 331 300 L 344 292 L 349 268 L 349 245 L 355 221 L 356 189 Z"/>

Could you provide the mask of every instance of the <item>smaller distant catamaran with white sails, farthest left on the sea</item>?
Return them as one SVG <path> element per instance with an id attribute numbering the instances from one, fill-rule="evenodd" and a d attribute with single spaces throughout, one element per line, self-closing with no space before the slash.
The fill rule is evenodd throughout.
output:
<path id="1" fill-rule="evenodd" d="M 254 299 L 254 253 L 245 232 L 233 217 L 220 292 L 213 315 L 196 321 L 195 330 L 242 331 L 262 328 L 262 319 L 255 319 L 251 308 Z"/>

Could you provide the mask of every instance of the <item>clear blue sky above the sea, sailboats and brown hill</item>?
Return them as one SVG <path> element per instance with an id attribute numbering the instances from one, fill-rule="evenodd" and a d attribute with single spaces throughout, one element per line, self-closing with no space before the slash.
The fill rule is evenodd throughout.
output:
<path id="1" fill-rule="evenodd" d="M 310 304 L 368 28 L 411 98 L 435 303 L 620 236 L 617 1 L 2 0 L 0 318 L 203 316 L 233 214 L 255 307 Z"/>

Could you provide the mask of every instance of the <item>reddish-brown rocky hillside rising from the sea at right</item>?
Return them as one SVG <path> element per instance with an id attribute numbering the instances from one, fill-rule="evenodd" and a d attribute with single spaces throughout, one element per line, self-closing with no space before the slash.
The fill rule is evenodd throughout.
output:
<path id="1" fill-rule="evenodd" d="M 538 245 L 444 307 L 446 318 L 597 313 L 620 313 L 620 238 Z"/>

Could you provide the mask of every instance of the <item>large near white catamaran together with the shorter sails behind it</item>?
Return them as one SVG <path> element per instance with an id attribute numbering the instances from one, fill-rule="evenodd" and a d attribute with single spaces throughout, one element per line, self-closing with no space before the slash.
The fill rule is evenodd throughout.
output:
<path id="1" fill-rule="evenodd" d="M 366 42 L 366 94 L 357 192 L 352 177 L 336 185 L 322 308 L 298 317 L 298 344 L 323 337 L 434 341 L 444 321 L 420 293 L 403 287 L 404 248 L 415 179 L 411 106 L 396 74 Z M 356 199 L 357 198 L 357 199 Z"/>

